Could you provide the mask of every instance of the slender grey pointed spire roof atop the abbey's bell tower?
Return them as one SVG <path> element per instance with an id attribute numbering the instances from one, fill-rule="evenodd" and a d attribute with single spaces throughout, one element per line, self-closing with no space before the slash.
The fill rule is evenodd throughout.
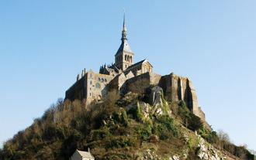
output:
<path id="1" fill-rule="evenodd" d="M 122 43 L 119 46 L 119 49 L 116 52 L 116 55 L 119 53 L 133 53 L 133 51 L 130 49 L 129 43 L 127 41 L 127 28 L 126 28 L 126 15 L 123 14 L 123 30 L 122 30 Z"/>

